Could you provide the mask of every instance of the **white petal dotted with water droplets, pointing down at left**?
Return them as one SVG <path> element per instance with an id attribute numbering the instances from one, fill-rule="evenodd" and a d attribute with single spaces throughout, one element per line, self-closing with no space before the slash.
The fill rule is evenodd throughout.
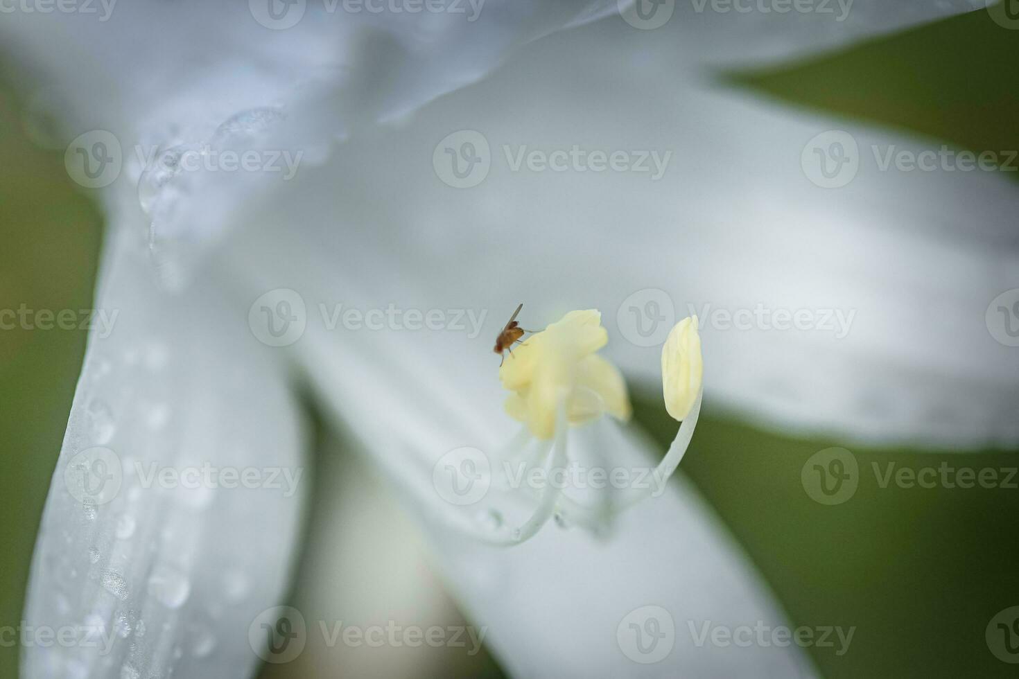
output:
<path id="1" fill-rule="evenodd" d="M 108 245 L 111 324 L 90 334 L 24 618 L 74 637 L 24 645 L 21 676 L 249 677 L 306 495 L 297 403 L 222 286 L 164 294 L 132 239 Z"/>

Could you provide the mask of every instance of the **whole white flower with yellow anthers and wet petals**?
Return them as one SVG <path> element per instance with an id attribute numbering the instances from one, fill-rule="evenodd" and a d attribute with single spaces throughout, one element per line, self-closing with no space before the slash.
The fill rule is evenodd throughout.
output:
<path id="1" fill-rule="evenodd" d="M 870 202 L 852 191 L 821 196 L 798 166 L 782 159 L 795 163 L 803 144 L 836 122 L 705 89 L 686 71 L 742 63 L 747 56 L 802 53 L 865 35 L 886 19 L 903 25 L 930 18 L 950 5 L 857 2 L 842 24 L 846 31 L 824 33 L 816 31 L 813 16 L 767 17 L 760 19 L 763 30 L 753 21 L 727 24 L 720 15 L 705 15 L 712 26 L 703 39 L 710 52 L 682 38 L 691 29 L 679 17 L 655 32 L 614 17 L 535 43 L 525 55 L 516 48 L 596 18 L 615 3 L 490 0 L 471 23 L 451 14 L 417 22 L 330 14 L 311 5 L 283 31 L 259 24 L 244 3 L 123 3 L 105 22 L 82 14 L 5 15 L 0 22 L 7 58 L 25 64 L 49 93 L 63 98 L 66 140 L 90 129 L 113 130 L 128 155 L 136 145 L 152 146 L 170 159 L 155 173 L 127 163 L 102 193 L 111 225 L 97 306 L 119 309 L 119 323 L 109 338 L 90 341 L 25 613 L 35 625 L 91 625 L 106 633 L 109 645 L 106 653 L 25 648 L 23 676 L 253 675 L 259 658 L 249 626 L 261 611 L 282 603 L 304 486 L 189 489 L 146 479 L 155 477 L 153 464 L 158 472 L 200 469 L 206 462 L 219 469 L 289 470 L 297 478 L 306 452 L 296 383 L 308 385 L 336 427 L 358 439 L 406 491 L 440 568 L 468 612 L 490 628 L 487 638 L 512 673 L 809 675 L 795 649 L 732 653 L 696 647 L 682 635 L 690 620 L 782 621 L 765 586 L 688 484 L 662 489 L 654 502 L 624 513 L 615 510 L 629 496 L 610 496 L 592 510 L 581 504 L 589 498 L 539 493 L 523 504 L 525 522 L 505 515 L 494 520 L 531 531 L 540 523 L 527 524 L 526 517 L 535 508 L 539 519 L 547 516 L 558 503 L 580 523 L 614 518 L 607 542 L 585 530 L 546 528 L 505 550 L 470 534 L 484 524 L 450 511 L 428 486 L 448 451 L 474 446 L 494 457 L 515 440 L 489 379 L 488 335 L 497 328 L 486 326 L 485 337 L 469 338 L 337 332 L 313 321 L 319 304 L 331 301 L 379 309 L 393 302 L 416 309 L 494 309 L 519 295 L 548 300 L 539 310 L 551 318 L 566 300 L 598 295 L 613 303 L 641 287 L 740 306 L 755 297 L 816 305 L 825 298 L 811 294 L 827 293 L 835 302 L 826 303 L 860 310 L 859 334 L 830 344 L 827 338 L 715 332 L 705 347 L 718 398 L 771 421 L 837 427 L 882 440 L 929 435 L 932 422 L 945 421 L 951 404 L 945 395 L 973 403 L 980 413 L 988 403 L 1009 402 L 1014 387 L 1002 377 L 1004 354 L 975 350 L 980 336 L 969 329 L 940 332 L 945 314 L 931 319 L 926 304 L 916 303 L 938 299 L 961 317 L 961 309 L 1006 282 L 1002 272 L 1014 270 L 1007 266 L 1014 249 L 990 240 L 1008 232 L 1007 215 L 1015 211 L 982 212 L 989 205 L 1014 207 L 1004 182 L 952 177 L 956 183 L 946 188 L 948 181 L 936 177 L 934 188 L 917 188 L 894 177 L 873 182 L 861 176 L 868 195 L 876 196 Z M 494 81 L 433 101 L 479 82 L 515 51 Z M 647 63 L 676 64 L 683 72 L 666 80 Z M 606 99 L 606 92 L 612 96 Z M 408 120 L 429 101 L 418 120 Z M 511 176 L 504 168 L 452 196 L 428 167 L 435 142 L 458 128 L 481 130 L 496 154 L 500 143 L 523 144 L 542 133 L 633 145 L 619 121 L 642 120 L 646 111 L 638 105 L 657 107 L 658 115 L 640 125 L 649 144 L 683 149 L 688 157 L 696 152 L 704 163 L 684 169 L 668 187 L 623 178 L 606 190 L 568 176 L 565 182 L 576 189 L 569 200 L 564 183 L 545 175 Z M 681 124 L 685 119 L 697 125 Z M 382 132 L 376 121 L 393 124 Z M 876 135 L 849 127 L 861 139 Z M 344 138 L 341 152 L 330 153 Z M 255 175 L 177 172 L 172 159 L 203 145 L 304 150 L 318 167 L 285 186 Z M 959 247 L 951 234 L 963 217 L 979 232 Z M 625 234 L 619 228 L 624 220 Z M 841 247 L 832 247 L 834 240 Z M 173 291 L 154 283 L 150 246 L 160 254 L 157 264 L 190 270 L 171 276 Z M 172 257 L 160 259 L 167 250 Z M 205 266 L 196 253 L 206 258 Z M 678 266 L 681 260 L 689 266 Z M 995 266 L 986 267 L 988 261 Z M 498 263 L 505 268 L 493 271 Z M 520 263 L 529 275 L 517 276 Z M 804 291 L 804 278 L 820 285 Z M 514 300 L 487 292 L 497 287 L 493 280 L 513 280 Z M 289 292 L 275 292 L 280 289 Z M 272 301 L 264 304 L 269 320 L 304 321 L 304 331 L 284 346 L 267 346 L 247 325 L 253 302 L 265 294 Z M 304 304 L 303 317 L 296 305 L 279 305 L 296 300 Z M 254 309 L 256 317 L 261 312 Z M 701 321 L 707 328 L 706 315 Z M 952 352 L 954 342 L 974 350 Z M 613 359 L 628 373 L 653 374 L 655 361 L 643 348 L 613 342 Z M 507 359 L 511 370 L 513 360 L 524 360 L 523 354 Z M 615 372 L 585 360 L 590 393 L 606 412 L 625 418 Z M 865 374 L 861 362 L 876 367 Z M 684 395 L 683 406 L 673 402 L 671 412 L 685 409 L 695 373 L 689 367 L 686 390 L 676 392 Z M 671 379 L 673 371 L 665 373 Z M 558 457 L 546 457 L 546 464 L 604 464 L 599 458 L 609 442 L 610 464 L 653 466 L 646 444 L 607 418 L 575 430 L 567 451 L 571 412 L 588 419 L 596 401 L 560 401 L 558 387 L 581 380 L 552 375 L 538 383 L 542 389 L 550 384 L 556 397 L 548 401 L 542 392 L 534 414 L 530 400 L 536 394 L 518 394 L 520 405 L 528 406 L 518 414 L 534 434 L 537 452 L 564 439 L 554 449 Z M 823 380 L 812 382 L 815 375 Z M 960 376 L 966 377 L 961 389 L 945 388 Z M 833 394 L 832 384 L 842 391 Z M 669 403 L 669 389 L 663 389 Z M 930 398 L 929 407 L 892 419 L 887 409 L 873 414 L 868 400 L 877 394 L 878 402 L 912 403 L 914 392 Z M 689 444 L 698 407 L 699 395 L 662 462 L 669 472 Z M 549 412 L 555 413 L 551 420 Z M 956 441 L 979 441 L 988 429 L 961 419 L 949 421 Z M 995 419 L 990 425 L 1002 440 L 1014 431 Z M 111 463 L 119 463 L 119 479 Z M 107 492 L 113 488 L 107 483 L 118 488 Z M 472 510 L 493 518 L 496 500 L 520 497 L 502 490 Z M 644 665 L 616 634 L 649 604 L 665 611 L 677 636 L 659 663 Z"/>

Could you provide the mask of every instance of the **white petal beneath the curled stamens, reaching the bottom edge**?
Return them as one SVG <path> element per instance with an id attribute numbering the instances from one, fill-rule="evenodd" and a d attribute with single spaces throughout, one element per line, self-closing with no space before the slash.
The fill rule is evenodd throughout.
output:
<path id="1" fill-rule="evenodd" d="M 498 449 L 518 427 L 502 411 L 498 357 L 489 346 L 492 326 L 505 319 L 488 318 L 489 309 L 473 305 L 487 298 L 472 289 L 477 284 L 436 291 L 426 279 L 406 276 L 405 269 L 416 268 L 411 260 L 434 256 L 387 247 L 387 228 L 344 220 L 329 229 L 331 236 L 319 233 L 319 241 L 309 239 L 315 230 L 310 224 L 268 225 L 257 238 L 231 243 L 231 271 L 250 286 L 252 299 L 283 287 L 300 295 L 304 331 L 286 350 L 304 366 L 331 417 L 361 441 L 371 462 L 426 522 L 450 586 L 475 623 L 489 630 L 505 667 L 519 676 L 809 676 L 796 648 L 730 653 L 695 643 L 691 625 L 700 638 L 705 623 L 775 626 L 784 616 L 689 485 L 669 486 L 664 495 L 624 513 L 604 540 L 580 528 L 564 532 L 551 522 L 531 542 L 508 549 L 465 535 L 464 522 L 450 519 L 453 513 L 470 517 L 478 531 L 521 518 L 492 511 L 497 482 L 478 500 L 458 506 L 446 504 L 448 498 L 432 486 L 433 471 L 441 472 L 455 449 L 476 448 L 498 464 Z M 328 243 L 351 241 L 352 231 L 358 231 L 357 244 L 339 269 Z M 383 320 L 370 313 L 389 308 L 398 316 Z M 352 309 L 382 327 L 356 328 Z M 453 321 L 458 309 L 487 319 L 484 333 L 472 334 L 470 314 Z M 408 312 L 420 312 L 422 320 L 439 312 L 447 327 L 416 329 Z M 606 351 L 612 350 L 609 344 Z M 585 468 L 653 467 L 646 445 L 592 439 L 585 432 L 570 435 L 570 458 Z M 667 611 L 676 631 L 672 650 L 645 666 L 630 641 L 615 639 L 618 632 L 632 633 L 624 618 L 635 609 L 641 617 L 649 606 Z"/>

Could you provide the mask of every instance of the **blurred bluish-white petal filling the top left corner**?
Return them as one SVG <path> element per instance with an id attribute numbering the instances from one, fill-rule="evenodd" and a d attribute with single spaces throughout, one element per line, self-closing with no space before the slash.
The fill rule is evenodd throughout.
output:
<path id="1" fill-rule="evenodd" d="M 150 239 L 164 282 L 179 287 L 195 260 L 238 223 L 235 208 L 321 163 L 353 129 L 398 123 L 477 81 L 515 49 L 615 3 L 113 0 L 92 7 L 5 13 L 3 47 L 23 63 L 19 74 L 42 83 L 40 106 L 48 103 L 63 121 L 55 145 L 112 159 L 101 166 L 108 212 L 133 221 L 146 205 L 139 236 Z M 260 152 L 254 170 L 220 160 L 251 150 Z M 181 152 L 192 162 L 167 162 Z M 177 169 L 159 176 L 152 169 L 160 165 Z"/>

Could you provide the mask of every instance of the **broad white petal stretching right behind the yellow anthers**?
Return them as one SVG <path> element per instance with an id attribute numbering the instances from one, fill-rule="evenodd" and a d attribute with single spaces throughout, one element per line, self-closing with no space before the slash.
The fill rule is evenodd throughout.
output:
<path id="1" fill-rule="evenodd" d="M 592 35 L 611 56 L 588 65 Z M 882 170 L 890 149 L 942 143 L 635 67 L 675 56 L 668 43 L 635 42 L 607 22 L 544 41 L 413 125 L 352 140 L 342 159 L 291 187 L 276 219 L 310 229 L 325 259 L 357 252 L 367 287 L 376 278 L 427 286 L 449 307 L 493 317 L 523 301 L 522 325 L 599 307 L 613 360 L 649 381 L 664 332 L 697 314 L 708 393 L 786 430 L 1015 445 L 1016 349 L 985 318 L 1000 293 L 1019 288 L 1014 183 L 1000 172 Z M 453 188 L 432 154 L 464 129 L 483 134 L 490 169 L 478 185 Z M 821 188 L 801 156 L 832 129 L 852 135 L 860 167 L 847 185 Z M 574 146 L 620 150 L 649 169 L 536 171 L 522 155 Z M 659 179 L 641 150 L 672 154 Z M 649 301 L 661 332 L 642 346 L 633 315 Z M 756 320 L 758 307 L 807 309 L 809 323 L 776 330 Z M 502 322 L 489 319 L 485 335 Z"/>

